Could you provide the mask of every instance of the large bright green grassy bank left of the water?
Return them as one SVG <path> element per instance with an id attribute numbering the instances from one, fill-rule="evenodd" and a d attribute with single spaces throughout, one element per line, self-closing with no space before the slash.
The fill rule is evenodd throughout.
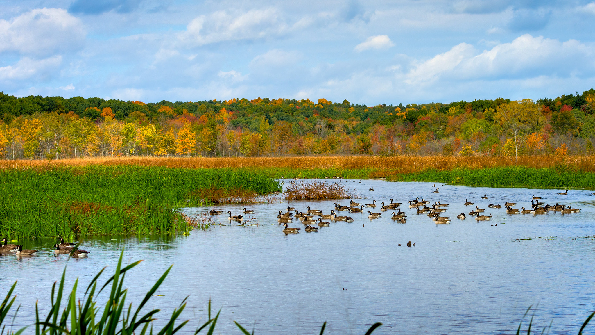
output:
<path id="1" fill-rule="evenodd" d="M 171 234 L 192 224 L 177 207 L 211 193 L 267 193 L 276 181 L 244 169 L 71 166 L 0 169 L 0 234 Z"/>

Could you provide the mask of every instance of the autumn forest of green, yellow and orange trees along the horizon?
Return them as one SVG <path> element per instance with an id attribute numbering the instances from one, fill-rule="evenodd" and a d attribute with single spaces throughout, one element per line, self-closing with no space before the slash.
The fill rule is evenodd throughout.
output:
<path id="1" fill-rule="evenodd" d="M 143 103 L 0 93 L 0 157 L 588 154 L 595 89 L 555 99 Z"/>

